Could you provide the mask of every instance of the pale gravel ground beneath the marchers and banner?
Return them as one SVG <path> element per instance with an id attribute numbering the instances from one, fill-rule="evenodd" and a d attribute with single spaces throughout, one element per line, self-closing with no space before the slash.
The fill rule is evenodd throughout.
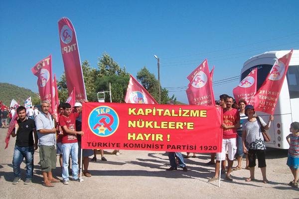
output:
<path id="1" fill-rule="evenodd" d="M 208 183 L 214 175 L 214 166 L 206 166 L 209 153 L 198 153 L 196 158 L 185 159 L 188 172 L 182 169 L 165 171 L 169 168 L 167 153 L 164 151 L 121 150 L 120 155 L 113 155 L 113 150 L 105 150 L 107 162 L 97 160 L 90 162 L 89 171 L 92 177 L 83 177 L 84 182 L 70 181 L 69 185 L 55 183 L 55 187 L 42 186 L 42 172 L 39 166 L 39 151 L 34 153 L 34 175 L 32 183 L 24 185 L 25 164 L 21 164 L 21 181 L 12 185 L 12 155 L 15 138 L 10 138 L 8 148 L 4 150 L 7 130 L 0 129 L 0 198 L 20 199 L 34 197 L 38 199 L 175 199 L 175 198 L 299 198 L 299 189 L 288 186 L 293 180 L 292 173 L 286 165 L 288 150 L 268 148 L 267 178 L 269 184 L 262 182 L 262 174 L 256 168 L 257 181 L 245 182 L 249 170 L 233 171 L 233 182 L 223 180 Z M 185 155 L 186 153 L 183 153 Z M 91 156 L 92 157 L 92 156 Z M 101 156 L 98 155 L 98 158 Z M 57 158 L 58 159 L 58 158 Z M 91 159 L 90 159 L 91 160 Z M 59 165 L 57 161 L 57 165 Z M 234 166 L 237 162 L 234 162 Z M 242 161 L 245 167 L 245 159 Z M 53 176 L 62 180 L 61 169 L 52 171 Z"/>

